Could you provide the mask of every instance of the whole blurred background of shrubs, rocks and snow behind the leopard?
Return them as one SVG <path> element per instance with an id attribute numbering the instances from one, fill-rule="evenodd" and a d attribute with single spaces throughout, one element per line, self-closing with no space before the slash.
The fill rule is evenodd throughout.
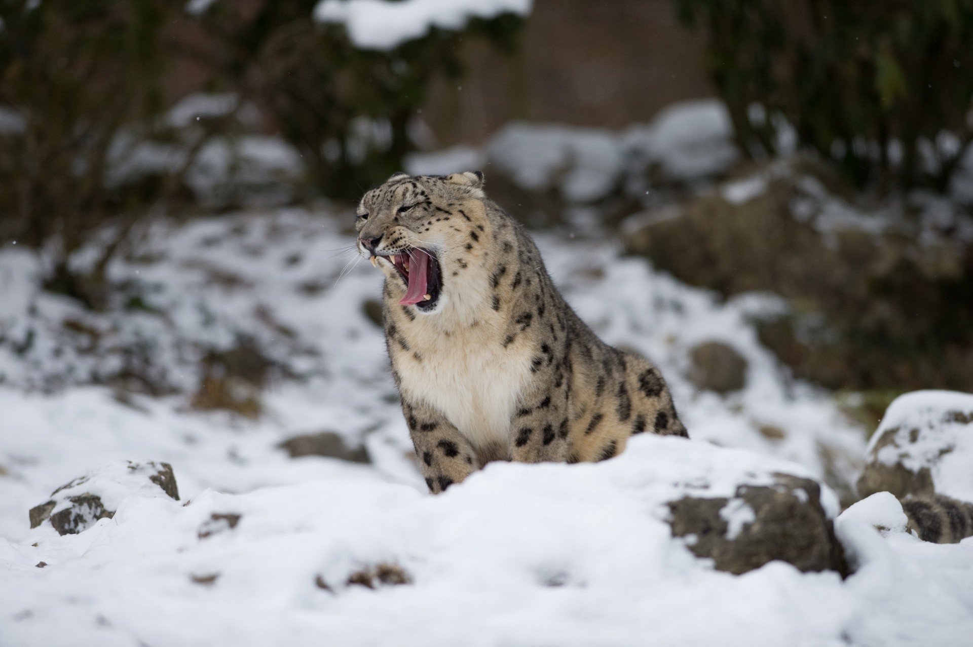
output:
<path id="1" fill-rule="evenodd" d="M 692 436 L 855 500 L 892 398 L 973 391 L 971 42 L 966 0 L 3 2 L 0 535 L 116 454 L 413 483 L 350 215 L 401 169 L 484 170 Z"/>

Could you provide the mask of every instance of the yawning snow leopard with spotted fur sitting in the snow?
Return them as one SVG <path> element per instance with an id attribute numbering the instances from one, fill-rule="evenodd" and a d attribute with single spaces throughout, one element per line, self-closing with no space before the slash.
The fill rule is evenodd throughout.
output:
<path id="1" fill-rule="evenodd" d="M 392 375 L 430 491 L 491 460 L 604 460 L 631 434 L 687 435 L 659 370 L 564 302 L 482 173 L 397 173 L 356 229 L 385 274 Z"/>

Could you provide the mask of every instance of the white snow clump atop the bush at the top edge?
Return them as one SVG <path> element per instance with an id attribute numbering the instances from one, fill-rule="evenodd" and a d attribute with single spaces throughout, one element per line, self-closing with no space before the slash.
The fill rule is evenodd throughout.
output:
<path id="1" fill-rule="evenodd" d="M 321 0 L 319 22 L 342 23 L 351 41 L 368 50 L 391 50 L 431 28 L 462 29 L 470 18 L 530 13 L 532 0 Z"/>

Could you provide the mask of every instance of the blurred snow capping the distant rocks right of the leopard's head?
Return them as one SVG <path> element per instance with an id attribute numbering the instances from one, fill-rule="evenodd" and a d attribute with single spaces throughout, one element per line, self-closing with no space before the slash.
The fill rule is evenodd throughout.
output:
<path id="1" fill-rule="evenodd" d="M 480 149 L 414 153 L 406 167 L 434 174 L 496 168 L 526 191 L 555 191 L 568 204 L 586 204 L 621 192 L 642 198 L 659 182 L 694 185 L 719 177 L 739 157 L 732 137 L 723 105 L 701 99 L 673 104 L 650 124 L 618 132 L 512 122 Z M 759 188 L 744 193 L 749 199 Z"/>

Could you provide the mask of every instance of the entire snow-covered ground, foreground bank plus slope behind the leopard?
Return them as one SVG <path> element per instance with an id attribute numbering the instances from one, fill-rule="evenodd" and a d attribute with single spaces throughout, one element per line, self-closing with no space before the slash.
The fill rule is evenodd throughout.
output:
<path id="1" fill-rule="evenodd" d="M 353 256 L 349 224 L 298 209 L 157 222 L 111 265 L 123 287 L 101 313 L 41 291 L 41 257 L 0 252 L 0 645 L 960 645 L 973 632 L 969 541 L 883 537 L 861 521 L 874 514 L 843 516 L 859 565 L 843 582 L 783 563 L 716 572 L 670 537 L 677 482 L 718 496 L 720 474 L 787 471 L 841 489 L 866 439 L 756 341 L 748 318 L 773 297 L 720 303 L 610 241 L 539 236 L 581 316 L 661 367 L 694 441 L 494 465 L 426 495 L 365 313 L 380 276 Z M 746 359 L 742 390 L 693 386 L 703 341 Z M 194 409 L 205 358 L 241 345 L 270 366 L 261 414 Z M 143 382 L 162 395 L 133 392 Z M 321 431 L 372 463 L 277 448 Z M 129 497 L 78 535 L 29 529 L 55 487 L 117 459 L 171 463 L 182 501 Z M 237 527 L 198 537 L 229 513 Z M 344 585 L 379 563 L 411 584 Z"/>

